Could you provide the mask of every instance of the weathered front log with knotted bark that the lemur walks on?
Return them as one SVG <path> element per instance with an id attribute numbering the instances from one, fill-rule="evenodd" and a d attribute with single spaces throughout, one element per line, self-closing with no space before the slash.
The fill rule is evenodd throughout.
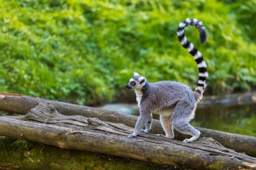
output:
<path id="1" fill-rule="evenodd" d="M 92 151 L 189 169 L 253 169 L 256 159 L 212 138 L 193 143 L 155 134 L 127 138 L 133 128 L 98 118 L 64 116 L 51 103 L 38 103 L 25 116 L 0 117 L 0 135 L 60 148 Z"/>

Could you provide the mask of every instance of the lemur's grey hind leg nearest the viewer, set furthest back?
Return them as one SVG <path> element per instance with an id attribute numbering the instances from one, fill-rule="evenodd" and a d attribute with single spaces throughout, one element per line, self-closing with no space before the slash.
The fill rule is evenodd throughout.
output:
<path id="1" fill-rule="evenodd" d="M 190 120 L 193 119 L 195 114 L 195 105 L 191 105 L 188 103 L 177 103 L 174 108 L 174 112 L 170 121 L 176 130 L 183 134 L 189 134 L 192 137 L 186 138 L 183 142 L 193 142 L 199 138 L 201 132 L 199 130 L 193 128 L 191 124 L 189 124 Z"/>

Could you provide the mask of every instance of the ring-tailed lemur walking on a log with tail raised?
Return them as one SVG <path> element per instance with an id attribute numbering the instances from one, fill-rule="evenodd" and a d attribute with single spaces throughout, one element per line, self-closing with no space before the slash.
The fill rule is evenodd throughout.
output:
<path id="1" fill-rule="evenodd" d="M 185 22 L 181 22 L 177 30 L 177 36 L 182 46 L 187 48 L 194 57 L 195 62 L 197 62 L 199 80 L 195 91 L 192 91 L 187 85 L 175 81 L 149 83 L 145 77 L 134 73 L 126 87 L 135 90 L 136 100 L 139 105 L 139 118 L 129 138 L 137 136 L 139 132 L 148 133 L 150 131 L 152 113 L 160 114 L 160 122 L 166 138 L 174 138 L 173 128 L 183 134 L 192 136 L 191 138 L 186 138 L 183 142 L 193 142 L 199 138 L 201 133 L 193 128 L 189 122 L 194 118 L 197 103 L 203 97 L 208 73 L 206 70 L 207 65 L 201 52 L 193 46 L 192 42 L 187 40 L 184 34 L 184 29 L 187 26 L 195 26 L 197 28 L 201 44 L 206 40 L 206 32 L 202 22 L 189 18 Z M 143 130 L 142 128 L 145 125 L 146 129 Z"/>

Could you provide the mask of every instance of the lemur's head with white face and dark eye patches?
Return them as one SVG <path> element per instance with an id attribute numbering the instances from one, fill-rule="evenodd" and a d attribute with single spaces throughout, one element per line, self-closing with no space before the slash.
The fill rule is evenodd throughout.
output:
<path id="1" fill-rule="evenodd" d="M 138 73 L 134 73 L 133 77 L 131 77 L 130 82 L 125 86 L 128 89 L 142 89 L 142 87 L 146 84 L 146 78 Z"/>

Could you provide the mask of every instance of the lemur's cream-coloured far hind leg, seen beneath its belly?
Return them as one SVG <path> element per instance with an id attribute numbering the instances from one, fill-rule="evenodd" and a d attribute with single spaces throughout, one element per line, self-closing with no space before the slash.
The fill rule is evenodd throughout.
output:
<path id="1" fill-rule="evenodd" d="M 170 122 L 170 116 L 160 115 L 160 122 L 162 128 L 164 129 L 166 138 L 174 138 L 173 126 L 172 123 Z"/>

